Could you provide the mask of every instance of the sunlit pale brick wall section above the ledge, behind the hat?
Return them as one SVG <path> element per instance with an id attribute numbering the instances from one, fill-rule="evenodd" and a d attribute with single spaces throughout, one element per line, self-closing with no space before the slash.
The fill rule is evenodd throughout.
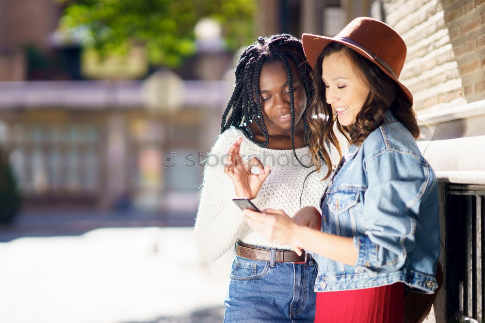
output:
<path id="1" fill-rule="evenodd" d="M 419 113 L 485 99 L 485 0 L 389 0 L 384 8 L 407 44 L 400 80 Z"/>

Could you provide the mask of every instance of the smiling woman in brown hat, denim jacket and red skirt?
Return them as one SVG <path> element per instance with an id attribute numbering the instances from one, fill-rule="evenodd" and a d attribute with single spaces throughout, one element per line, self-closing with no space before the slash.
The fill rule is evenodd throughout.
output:
<path id="1" fill-rule="evenodd" d="M 403 322 L 404 289 L 436 291 L 440 249 L 436 176 L 416 145 L 413 97 L 398 80 L 406 46 L 368 17 L 302 41 L 314 71 L 312 155 L 331 168 L 321 143 L 339 146 L 334 123 L 351 146 L 326 174 L 321 232 L 280 210 L 245 210 L 245 220 L 270 242 L 317 254 L 316 322 Z"/>

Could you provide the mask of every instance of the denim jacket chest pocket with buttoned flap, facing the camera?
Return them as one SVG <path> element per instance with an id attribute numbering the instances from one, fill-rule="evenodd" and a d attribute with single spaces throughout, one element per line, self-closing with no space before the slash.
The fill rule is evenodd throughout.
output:
<path id="1" fill-rule="evenodd" d="M 342 190 L 327 193 L 327 207 L 331 214 L 329 220 L 335 226 L 335 233 L 344 237 L 357 235 L 356 206 L 359 191 Z"/>

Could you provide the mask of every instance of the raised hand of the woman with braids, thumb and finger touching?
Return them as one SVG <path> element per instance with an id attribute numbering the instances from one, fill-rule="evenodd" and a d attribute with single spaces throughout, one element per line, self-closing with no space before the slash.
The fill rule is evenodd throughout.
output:
<path id="1" fill-rule="evenodd" d="M 239 150 L 241 149 L 242 137 L 231 145 L 227 152 L 224 173 L 232 179 L 236 196 L 253 199 L 258 194 L 264 180 L 270 175 L 271 167 L 263 166 L 258 158 L 253 157 L 248 162 L 242 160 Z M 251 168 L 257 166 L 259 174 L 251 172 Z"/>

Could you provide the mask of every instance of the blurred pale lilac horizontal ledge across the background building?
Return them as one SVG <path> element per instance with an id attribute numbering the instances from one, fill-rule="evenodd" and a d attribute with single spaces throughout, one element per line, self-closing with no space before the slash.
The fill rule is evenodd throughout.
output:
<path id="1" fill-rule="evenodd" d="M 0 111 L 16 108 L 146 108 L 143 81 L 0 82 Z M 183 81 L 182 107 L 220 107 L 225 81 Z"/>

